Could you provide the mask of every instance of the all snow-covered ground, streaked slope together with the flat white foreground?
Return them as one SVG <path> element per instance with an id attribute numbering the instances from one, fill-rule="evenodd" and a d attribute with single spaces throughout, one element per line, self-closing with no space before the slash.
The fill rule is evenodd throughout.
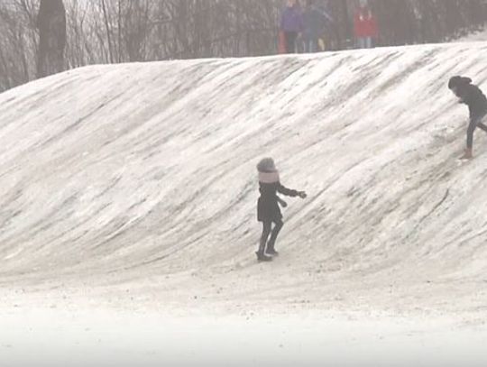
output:
<path id="1" fill-rule="evenodd" d="M 1 94 L 0 362 L 487 362 L 487 136 L 456 160 L 446 88 L 486 89 L 486 57 L 95 66 Z M 265 156 L 308 199 L 258 264 Z"/>

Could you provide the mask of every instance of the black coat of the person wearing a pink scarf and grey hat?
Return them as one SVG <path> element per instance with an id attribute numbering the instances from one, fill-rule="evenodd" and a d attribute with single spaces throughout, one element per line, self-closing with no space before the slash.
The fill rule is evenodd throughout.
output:
<path id="1" fill-rule="evenodd" d="M 257 219 L 259 222 L 279 222 L 282 219 L 278 204 L 277 193 L 287 197 L 298 197 L 299 192 L 284 188 L 280 182 L 262 183 L 259 182 L 261 197 L 257 203 Z"/>

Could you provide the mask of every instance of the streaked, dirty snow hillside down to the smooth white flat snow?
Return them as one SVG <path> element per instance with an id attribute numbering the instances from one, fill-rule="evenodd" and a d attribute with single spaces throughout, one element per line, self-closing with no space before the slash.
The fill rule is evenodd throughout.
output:
<path id="1" fill-rule="evenodd" d="M 484 284 L 486 137 L 456 161 L 468 114 L 446 83 L 485 87 L 486 56 L 465 43 L 92 66 L 5 92 L 0 280 L 320 301 L 345 280 Z M 271 267 L 253 254 L 264 156 L 309 195 L 289 202 Z"/>

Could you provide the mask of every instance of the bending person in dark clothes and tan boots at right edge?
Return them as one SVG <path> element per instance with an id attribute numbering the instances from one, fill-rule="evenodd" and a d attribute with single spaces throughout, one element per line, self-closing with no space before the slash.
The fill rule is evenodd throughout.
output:
<path id="1" fill-rule="evenodd" d="M 471 78 L 453 77 L 448 82 L 448 88 L 452 90 L 455 96 L 459 97 L 459 102 L 468 106 L 470 111 L 470 124 L 467 129 L 467 147 L 462 160 L 471 160 L 473 158 L 473 132 L 480 127 L 487 132 L 487 126 L 482 124 L 482 120 L 487 115 L 487 97 L 482 90 L 473 86 Z"/>

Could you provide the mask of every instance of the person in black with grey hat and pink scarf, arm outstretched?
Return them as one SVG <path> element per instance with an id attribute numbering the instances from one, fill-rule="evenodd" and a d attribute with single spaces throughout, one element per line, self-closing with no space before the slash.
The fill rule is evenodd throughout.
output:
<path id="1" fill-rule="evenodd" d="M 272 258 L 269 255 L 276 256 L 279 254 L 275 250 L 275 243 L 282 225 L 284 225 L 279 204 L 283 207 L 288 206 L 285 201 L 277 196 L 277 193 L 280 192 L 288 197 L 301 198 L 306 198 L 307 195 L 304 191 L 291 190 L 280 184 L 279 171 L 271 158 L 260 161 L 257 165 L 257 170 L 259 171 L 261 191 L 261 197 L 259 197 L 257 204 L 257 219 L 262 222 L 263 228 L 259 250 L 256 254 L 259 261 L 271 261 Z M 274 229 L 272 229 L 272 223 L 274 224 Z M 268 242 L 269 234 L 271 234 L 271 239 Z"/>

